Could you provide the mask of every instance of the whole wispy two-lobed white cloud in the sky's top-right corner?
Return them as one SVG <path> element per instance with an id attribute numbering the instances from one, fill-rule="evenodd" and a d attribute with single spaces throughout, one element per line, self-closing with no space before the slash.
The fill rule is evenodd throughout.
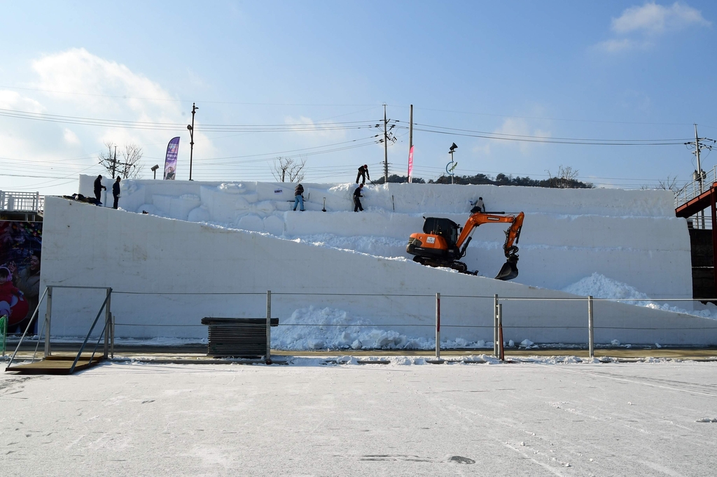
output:
<path id="1" fill-rule="evenodd" d="M 618 18 L 612 19 L 611 30 L 615 37 L 599 42 L 596 47 L 607 53 L 649 49 L 655 45 L 657 37 L 668 32 L 711 25 L 701 11 L 686 4 L 675 2 L 671 6 L 663 6 L 647 2 L 642 6 L 631 6 Z"/>

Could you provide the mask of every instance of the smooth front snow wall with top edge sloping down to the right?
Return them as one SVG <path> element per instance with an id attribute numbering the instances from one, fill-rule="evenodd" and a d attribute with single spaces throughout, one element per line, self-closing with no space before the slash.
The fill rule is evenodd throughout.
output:
<path id="1" fill-rule="evenodd" d="M 333 214 L 341 223 L 369 216 Z M 285 212 L 284 223 L 299 215 L 320 223 L 328 213 Z M 435 294 L 440 293 L 443 339 L 470 342 L 493 340 L 493 294 L 576 298 L 404 258 L 51 197 L 45 203 L 42 281 L 43 287 L 112 287 L 115 335 L 138 338 L 206 338 L 202 317 L 265 317 L 267 290 L 272 316 L 280 322 L 298 309 L 327 307 L 374 327 L 424 338 L 435 332 Z M 104 291 L 54 289 L 51 336 L 85 334 L 103 299 Z M 504 302 L 503 316 L 506 341 L 587 342 L 584 300 Z M 594 316 L 598 343 L 717 344 L 712 319 L 616 302 L 597 302 Z"/>

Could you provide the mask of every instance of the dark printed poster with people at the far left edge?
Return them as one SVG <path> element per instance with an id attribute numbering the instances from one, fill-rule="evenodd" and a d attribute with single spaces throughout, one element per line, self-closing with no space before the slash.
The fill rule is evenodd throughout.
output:
<path id="1" fill-rule="evenodd" d="M 0 221 L 0 317 L 8 317 L 8 334 L 24 332 L 37 308 L 41 251 L 42 222 Z"/>

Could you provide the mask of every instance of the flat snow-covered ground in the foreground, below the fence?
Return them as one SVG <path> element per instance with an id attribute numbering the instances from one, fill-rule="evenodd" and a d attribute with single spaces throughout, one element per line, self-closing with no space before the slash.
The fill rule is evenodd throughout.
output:
<path id="1" fill-rule="evenodd" d="M 0 375 L 4 475 L 713 476 L 717 363 Z"/>

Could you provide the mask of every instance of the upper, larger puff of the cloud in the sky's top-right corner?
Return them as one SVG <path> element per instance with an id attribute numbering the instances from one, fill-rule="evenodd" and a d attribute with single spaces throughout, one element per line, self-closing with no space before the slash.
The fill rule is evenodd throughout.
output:
<path id="1" fill-rule="evenodd" d="M 675 2 L 672 6 L 655 3 L 632 6 L 623 11 L 619 18 L 612 19 L 612 31 L 617 34 L 632 32 L 662 34 L 694 25 L 710 26 L 711 22 L 703 18 L 701 11 L 679 2 Z"/>

